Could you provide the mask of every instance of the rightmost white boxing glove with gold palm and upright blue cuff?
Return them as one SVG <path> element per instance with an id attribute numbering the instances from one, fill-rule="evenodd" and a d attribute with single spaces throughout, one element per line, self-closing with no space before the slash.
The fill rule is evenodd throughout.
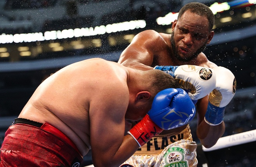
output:
<path id="1" fill-rule="evenodd" d="M 209 125 L 221 124 L 225 107 L 235 95 L 237 82 L 234 74 L 222 66 L 213 68 L 216 73 L 216 88 L 209 94 L 209 102 L 204 120 Z"/>

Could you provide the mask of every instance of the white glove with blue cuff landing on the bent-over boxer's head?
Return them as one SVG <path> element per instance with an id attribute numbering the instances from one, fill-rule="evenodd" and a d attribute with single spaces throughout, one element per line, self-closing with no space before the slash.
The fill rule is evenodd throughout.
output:
<path id="1" fill-rule="evenodd" d="M 155 66 L 174 77 L 180 88 L 189 90 L 189 97 L 195 101 L 208 95 L 216 86 L 216 74 L 213 69 L 196 65 Z"/>

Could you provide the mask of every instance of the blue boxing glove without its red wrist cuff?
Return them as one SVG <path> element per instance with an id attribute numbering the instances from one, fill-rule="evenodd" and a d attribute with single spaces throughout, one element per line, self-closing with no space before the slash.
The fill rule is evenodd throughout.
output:
<path id="1" fill-rule="evenodd" d="M 188 124 L 195 116 L 195 105 L 183 89 L 165 89 L 153 100 L 150 119 L 164 130 Z"/>

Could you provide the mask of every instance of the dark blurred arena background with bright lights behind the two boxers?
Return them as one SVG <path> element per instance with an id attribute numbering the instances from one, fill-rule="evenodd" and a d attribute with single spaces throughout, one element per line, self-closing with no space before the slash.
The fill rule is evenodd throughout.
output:
<path id="1" fill-rule="evenodd" d="M 8 126 L 51 73 L 93 57 L 118 61 L 138 32 L 171 33 L 177 12 L 189 2 L 213 10 L 215 35 L 204 53 L 237 79 L 221 147 L 201 147 L 196 119 L 190 124 L 198 166 L 256 167 L 255 0 L 0 0 L 0 145 Z M 92 164 L 90 156 L 84 157 L 84 166 Z"/>

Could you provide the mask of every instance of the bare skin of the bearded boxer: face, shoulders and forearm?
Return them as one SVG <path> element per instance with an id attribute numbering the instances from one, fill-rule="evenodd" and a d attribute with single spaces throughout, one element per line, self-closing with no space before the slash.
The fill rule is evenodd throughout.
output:
<path id="1" fill-rule="evenodd" d="M 196 20 L 196 21 L 195 21 Z M 209 61 L 204 53 L 197 50 L 211 42 L 214 32 L 209 31 L 208 19 L 187 10 L 178 21 L 172 24 L 172 34 L 158 33 L 146 30 L 137 34 L 130 45 L 121 54 L 118 63 L 137 68 L 150 70 L 156 65 L 198 65 L 214 68 L 217 65 Z M 177 55 L 179 57 L 177 57 Z M 195 54 L 195 55 L 194 55 Z M 193 56 L 194 55 L 194 56 Z M 204 115 L 208 106 L 208 96 L 197 102 L 198 126 L 197 136 L 204 147 L 212 147 L 225 131 L 224 122 L 218 126 L 210 126 L 204 121 Z M 186 126 L 176 128 L 164 133 L 175 134 L 181 132 Z"/>

